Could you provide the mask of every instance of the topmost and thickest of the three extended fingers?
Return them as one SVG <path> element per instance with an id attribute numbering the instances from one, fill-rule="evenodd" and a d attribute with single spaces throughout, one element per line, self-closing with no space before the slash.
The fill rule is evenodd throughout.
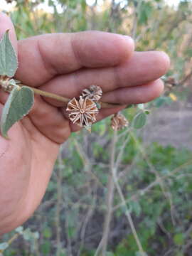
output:
<path id="1" fill-rule="evenodd" d="M 132 38 L 100 31 L 55 33 L 18 42 L 16 78 L 38 86 L 80 68 L 114 66 L 132 55 Z"/>

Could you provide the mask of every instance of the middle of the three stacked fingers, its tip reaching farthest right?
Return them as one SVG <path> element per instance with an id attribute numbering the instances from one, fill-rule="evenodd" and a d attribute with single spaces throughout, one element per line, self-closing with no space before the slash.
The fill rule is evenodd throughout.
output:
<path id="1" fill-rule="evenodd" d="M 79 70 L 73 74 L 61 75 L 50 80 L 40 89 L 71 98 L 78 97 L 83 89 L 95 84 L 102 87 L 105 93 L 119 87 L 144 85 L 160 78 L 168 69 L 169 57 L 166 53 L 140 52 L 134 53 L 130 60 L 117 67 Z M 136 90 L 137 88 L 134 91 Z M 56 107 L 63 105 L 62 102 L 48 98 L 45 100 Z"/>

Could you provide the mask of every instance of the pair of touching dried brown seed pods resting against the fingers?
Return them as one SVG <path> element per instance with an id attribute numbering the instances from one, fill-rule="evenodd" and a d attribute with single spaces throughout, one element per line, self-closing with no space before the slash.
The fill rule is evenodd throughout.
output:
<path id="1" fill-rule="evenodd" d="M 91 85 L 82 91 L 79 100 L 75 97 L 70 100 L 67 107 L 70 121 L 90 130 L 92 123 L 96 122 L 96 115 L 99 112 L 96 102 L 101 97 L 102 89 L 97 85 Z"/>

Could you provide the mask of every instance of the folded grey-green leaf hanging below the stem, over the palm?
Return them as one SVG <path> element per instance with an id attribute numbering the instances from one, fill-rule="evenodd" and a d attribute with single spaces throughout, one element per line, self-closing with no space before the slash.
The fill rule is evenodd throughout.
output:
<path id="1" fill-rule="evenodd" d="M 34 102 L 33 90 L 29 87 L 14 87 L 1 116 L 1 135 L 8 139 L 7 132 L 13 124 L 31 110 Z"/>

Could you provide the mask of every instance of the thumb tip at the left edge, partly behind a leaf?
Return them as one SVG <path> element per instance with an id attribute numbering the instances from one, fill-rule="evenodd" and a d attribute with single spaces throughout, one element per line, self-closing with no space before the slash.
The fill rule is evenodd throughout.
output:
<path id="1" fill-rule="evenodd" d="M 17 52 L 17 40 L 16 40 L 16 32 L 15 32 L 14 24 L 12 23 L 11 18 L 6 16 L 6 14 L 0 12 L 0 38 L 4 35 L 4 33 L 8 29 L 9 29 L 9 38 Z"/>

